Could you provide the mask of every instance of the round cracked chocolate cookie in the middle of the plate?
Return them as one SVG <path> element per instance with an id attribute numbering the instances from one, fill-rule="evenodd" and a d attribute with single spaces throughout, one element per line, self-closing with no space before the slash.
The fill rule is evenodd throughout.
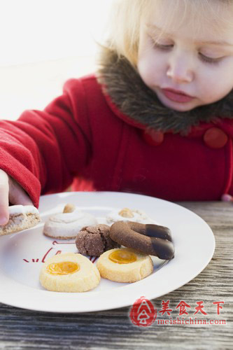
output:
<path id="1" fill-rule="evenodd" d="M 120 245 L 109 236 L 110 227 L 99 224 L 82 228 L 76 237 L 78 252 L 85 255 L 99 256 L 104 251 L 118 248 Z"/>

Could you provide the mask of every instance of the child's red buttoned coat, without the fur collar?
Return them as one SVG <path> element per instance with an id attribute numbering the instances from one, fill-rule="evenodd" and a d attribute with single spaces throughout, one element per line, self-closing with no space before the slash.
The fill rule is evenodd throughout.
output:
<path id="1" fill-rule="evenodd" d="M 0 169 L 36 206 L 39 195 L 65 190 L 76 176 L 77 190 L 220 200 L 233 195 L 232 137 L 233 121 L 225 118 L 151 144 L 144 127 L 122 115 L 95 76 L 87 76 L 69 80 L 44 111 L 0 121 Z"/>

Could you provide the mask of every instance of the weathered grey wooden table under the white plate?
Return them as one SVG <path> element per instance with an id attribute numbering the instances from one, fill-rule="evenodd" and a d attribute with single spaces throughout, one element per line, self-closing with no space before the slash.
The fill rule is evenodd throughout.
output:
<path id="1" fill-rule="evenodd" d="M 52 314 L 0 304 L 0 349 L 233 349 L 233 204 L 225 202 L 178 203 L 204 218 L 216 237 L 216 251 L 199 276 L 168 295 L 153 300 L 157 319 L 225 320 L 227 324 L 158 325 L 139 328 L 129 320 L 129 307 L 88 314 Z M 198 253 L 197 253 L 198 259 Z M 0 286 L 1 288 L 1 286 Z M 162 316 L 162 300 L 171 315 Z M 178 303 L 190 305 L 188 316 L 179 316 Z M 203 315 L 195 316 L 197 301 Z M 213 302 L 220 304 L 220 314 Z M 197 321 L 196 321 L 197 322 Z"/>

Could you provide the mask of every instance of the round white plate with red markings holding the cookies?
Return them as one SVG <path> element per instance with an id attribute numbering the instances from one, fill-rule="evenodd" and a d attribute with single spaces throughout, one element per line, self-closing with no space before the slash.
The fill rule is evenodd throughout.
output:
<path id="1" fill-rule="evenodd" d="M 36 311 L 87 312 L 132 305 L 136 299 L 160 297 L 183 286 L 199 274 L 212 258 L 213 232 L 202 218 L 177 204 L 129 193 L 59 193 L 41 197 L 43 222 L 62 212 L 66 203 L 94 214 L 100 223 L 113 209 L 141 209 L 160 225 L 171 229 L 175 258 L 154 259 L 153 274 L 136 283 L 101 279 L 85 293 L 57 293 L 43 289 L 38 281 L 46 258 L 66 251 L 77 252 L 74 241 L 50 239 L 42 233 L 43 223 L 18 234 L 0 237 L 0 302 Z"/>

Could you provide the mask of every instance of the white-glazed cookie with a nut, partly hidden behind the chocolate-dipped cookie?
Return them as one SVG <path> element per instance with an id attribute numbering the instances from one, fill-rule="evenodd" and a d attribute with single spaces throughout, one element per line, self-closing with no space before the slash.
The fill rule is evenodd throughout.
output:
<path id="1" fill-rule="evenodd" d="M 113 210 L 106 216 L 107 223 L 116 223 L 117 221 L 134 221 L 135 223 L 155 223 L 149 216 L 138 209 L 120 209 Z"/>

